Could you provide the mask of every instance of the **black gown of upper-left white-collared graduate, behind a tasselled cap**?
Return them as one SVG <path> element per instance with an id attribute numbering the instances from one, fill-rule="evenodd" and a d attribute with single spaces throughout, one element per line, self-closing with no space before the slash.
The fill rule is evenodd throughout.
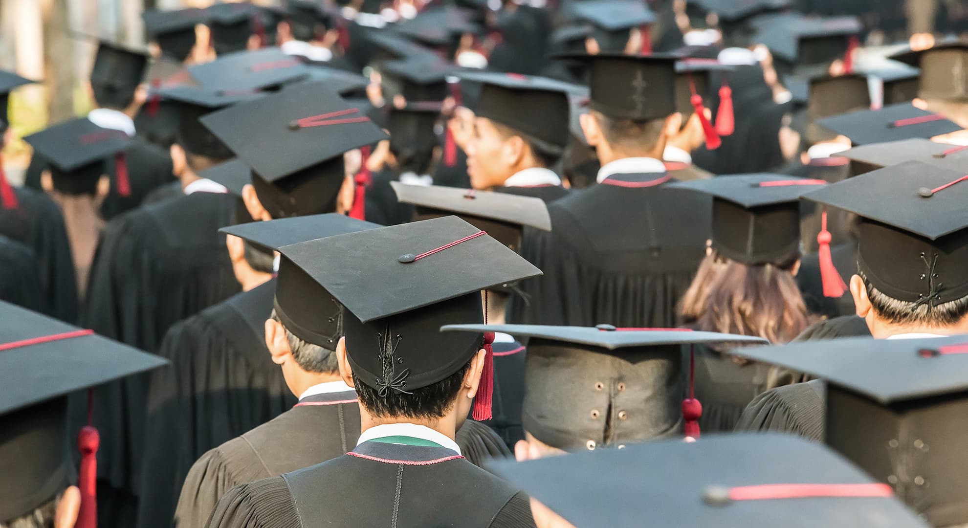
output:
<path id="1" fill-rule="evenodd" d="M 110 220 L 115 216 L 134 209 L 144 202 L 152 190 L 174 179 L 171 172 L 171 156 L 158 145 L 133 138 L 125 150 L 128 166 L 128 181 L 131 194 L 123 197 L 118 194 L 117 169 L 114 163 L 109 165 L 108 175 L 111 178 L 111 190 L 105 202 L 101 204 L 101 216 Z M 41 173 L 47 168 L 47 162 L 41 156 L 34 156 L 27 168 L 24 185 L 34 189 L 41 189 Z"/>

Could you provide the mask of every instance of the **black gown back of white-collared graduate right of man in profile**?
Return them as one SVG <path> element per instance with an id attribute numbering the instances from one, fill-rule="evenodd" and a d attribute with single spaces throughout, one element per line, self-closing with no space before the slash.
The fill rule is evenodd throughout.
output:
<path id="1" fill-rule="evenodd" d="M 676 326 L 676 303 L 706 255 L 711 199 L 619 174 L 548 206 L 552 231 L 527 228 L 522 256 L 544 275 L 521 282 L 508 322 Z"/>

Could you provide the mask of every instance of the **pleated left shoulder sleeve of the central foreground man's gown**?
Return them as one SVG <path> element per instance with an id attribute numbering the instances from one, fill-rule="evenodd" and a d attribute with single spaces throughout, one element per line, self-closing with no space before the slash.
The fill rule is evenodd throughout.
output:
<path id="1" fill-rule="evenodd" d="M 282 477 L 235 486 L 219 501 L 208 528 L 301 528 Z"/>

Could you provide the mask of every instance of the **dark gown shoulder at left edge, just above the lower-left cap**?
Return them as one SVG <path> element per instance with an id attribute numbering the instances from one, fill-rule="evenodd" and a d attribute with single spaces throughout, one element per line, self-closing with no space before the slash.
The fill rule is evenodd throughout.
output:
<path id="1" fill-rule="evenodd" d="M 30 248 L 0 234 L 0 300 L 49 314 L 44 283 Z"/>

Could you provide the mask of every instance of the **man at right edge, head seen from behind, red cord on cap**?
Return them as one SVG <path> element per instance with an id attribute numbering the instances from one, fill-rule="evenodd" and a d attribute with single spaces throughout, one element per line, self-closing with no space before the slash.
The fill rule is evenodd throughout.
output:
<path id="1" fill-rule="evenodd" d="M 961 172 L 905 162 L 804 195 L 861 217 L 859 270 L 850 293 L 874 338 L 968 332 L 968 277 L 961 265 L 968 226 L 954 212 L 968 186 L 947 185 L 960 181 Z M 823 440 L 824 388 L 811 381 L 764 392 L 747 406 L 737 429 Z"/>

